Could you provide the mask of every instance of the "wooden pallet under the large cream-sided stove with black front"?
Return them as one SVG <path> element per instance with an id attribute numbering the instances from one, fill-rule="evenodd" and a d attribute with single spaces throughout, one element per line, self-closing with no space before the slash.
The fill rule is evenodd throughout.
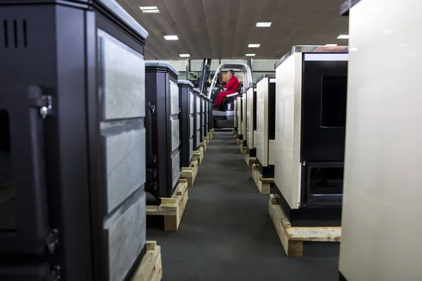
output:
<path id="1" fill-rule="evenodd" d="M 269 216 L 279 235 L 287 256 L 302 257 L 303 242 L 340 242 L 341 227 L 290 226 L 274 195 L 269 195 Z"/>

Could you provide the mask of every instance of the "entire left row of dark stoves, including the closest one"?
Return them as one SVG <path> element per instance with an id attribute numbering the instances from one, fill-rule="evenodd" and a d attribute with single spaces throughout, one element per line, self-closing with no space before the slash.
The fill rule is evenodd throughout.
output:
<path id="1" fill-rule="evenodd" d="M 0 280 L 125 280 L 212 105 L 117 2 L 44 2 L 0 1 Z"/>

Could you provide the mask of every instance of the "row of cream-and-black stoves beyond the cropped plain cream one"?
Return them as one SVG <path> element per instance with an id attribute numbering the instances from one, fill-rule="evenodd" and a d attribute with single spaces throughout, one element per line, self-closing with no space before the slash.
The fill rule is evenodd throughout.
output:
<path id="1" fill-rule="evenodd" d="M 293 226 L 340 225 L 345 47 L 295 46 L 235 105 L 235 128 Z"/>

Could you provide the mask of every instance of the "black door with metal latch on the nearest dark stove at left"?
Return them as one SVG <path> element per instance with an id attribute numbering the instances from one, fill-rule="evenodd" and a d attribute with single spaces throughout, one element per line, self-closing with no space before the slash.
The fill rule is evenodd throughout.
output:
<path id="1" fill-rule="evenodd" d="M 37 86 L 0 89 L 0 254 L 41 254 L 49 238 L 54 244 L 41 117 L 51 118 L 49 105 Z"/>

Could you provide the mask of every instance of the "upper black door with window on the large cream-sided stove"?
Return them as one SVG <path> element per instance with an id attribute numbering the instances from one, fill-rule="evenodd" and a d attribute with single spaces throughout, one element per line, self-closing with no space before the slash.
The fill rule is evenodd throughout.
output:
<path id="1" fill-rule="evenodd" d="M 343 162 L 348 55 L 307 55 L 302 78 L 301 160 Z"/>

